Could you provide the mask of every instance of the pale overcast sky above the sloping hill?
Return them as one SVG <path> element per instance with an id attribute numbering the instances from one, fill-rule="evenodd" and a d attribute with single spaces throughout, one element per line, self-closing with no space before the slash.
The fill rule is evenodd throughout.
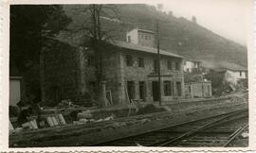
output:
<path id="1" fill-rule="evenodd" d="M 168 2 L 168 3 L 167 3 Z M 174 16 L 192 19 L 234 42 L 247 42 L 247 9 L 250 0 L 169 0 L 163 10 Z"/>

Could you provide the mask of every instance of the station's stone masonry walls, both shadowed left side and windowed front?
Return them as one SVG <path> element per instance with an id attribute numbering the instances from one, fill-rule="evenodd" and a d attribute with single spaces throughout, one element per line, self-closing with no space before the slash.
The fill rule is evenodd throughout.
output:
<path id="1" fill-rule="evenodd" d="M 133 57 L 133 66 L 126 66 L 126 55 Z M 97 79 L 95 76 L 95 59 L 92 50 L 86 47 L 73 47 L 65 43 L 57 43 L 45 52 L 45 80 L 44 89 L 46 99 L 51 103 L 58 103 L 62 99 L 75 98 L 84 93 L 90 93 L 97 98 Z M 138 67 L 137 58 L 144 59 L 145 67 Z M 154 59 L 156 55 L 121 49 L 117 46 L 107 46 L 103 52 L 103 75 L 106 81 L 106 91 L 112 94 L 113 104 L 129 103 L 126 93 L 126 82 L 135 82 L 135 98 L 139 98 L 139 81 L 145 81 L 146 100 L 153 101 L 152 81 L 157 81 L 154 73 Z M 167 68 L 168 60 L 179 61 L 180 70 L 173 71 Z M 90 62 L 90 64 L 89 64 Z M 170 101 L 174 98 L 184 97 L 183 60 L 161 56 L 161 91 L 162 99 Z M 163 96 L 163 82 L 170 80 L 181 82 L 182 95 L 176 96 L 175 84 L 172 96 Z M 58 96 L 56 97 L 56 95 Z"/>

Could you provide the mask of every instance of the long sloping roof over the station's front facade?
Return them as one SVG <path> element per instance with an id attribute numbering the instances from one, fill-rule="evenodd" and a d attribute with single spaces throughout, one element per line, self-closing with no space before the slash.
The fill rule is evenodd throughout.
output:
<path id="1" fill-rule="evenodd" d="M 157 54 L 157 49 L 154 47 L 150 47 L 150 46 L 144 46 L 144 45 L 139 45 L 139 44 L 135 44 L 135 43 L 129 43 L 129 42 L 121 42 L 121 41 L 115 41 L 112 42 L 114 45 L 117 45 L 121 48 L 125 48 L 125 49 L 131 49 L 131 50 L 137 50 L 137 51 L 141 51 L 141 52 L 147 52 L 147 53 L 152 53 L 152 54 Z M 160 55 L 165 55 L 165 56 L 169 56 L 169 57 L 175 57 L 175 58 L 184 58 L 180 55 L 174 54 L 172 52 L 168 52 L 165 50 L 160 49 Z"/>

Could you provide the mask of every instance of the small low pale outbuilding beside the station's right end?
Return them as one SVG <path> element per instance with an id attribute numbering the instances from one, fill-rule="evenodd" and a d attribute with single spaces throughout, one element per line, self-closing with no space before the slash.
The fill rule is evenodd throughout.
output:
<path id="1" fill-rule="evenodd" d="M 210 97 L 211 82 L 210 81 L 196 81 L 185 84 L 186 98 L 204 98 Z"/>

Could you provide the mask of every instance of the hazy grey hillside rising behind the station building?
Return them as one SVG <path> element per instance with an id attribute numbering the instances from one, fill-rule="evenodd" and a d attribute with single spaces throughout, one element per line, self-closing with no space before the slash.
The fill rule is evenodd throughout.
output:
<path id="1" fill-rule="evenodd" d="M 73 23 L 69 26 L 81 26 L 84 13 L 65 6 L 65 12 L 71 16 Z M 134 28 L 146 28 L 155 31 L 156 18 L 160 26 L 160 47 L 171 52 L 204 60 L 205 62 L 236 63 L 247 66 L 247 47 L 229 41 L 209 29 L 199 26 L 185 18 L 176 18 L 172 13 L 157 12 L 148 5 L 117 5 L 121 22 L 102 18 L 104 28 L 113 28 L 112 35 L 116 40 L 125 40 L 125 32 Z M 103 15 L 102 15 L 103 16 Z"/>

